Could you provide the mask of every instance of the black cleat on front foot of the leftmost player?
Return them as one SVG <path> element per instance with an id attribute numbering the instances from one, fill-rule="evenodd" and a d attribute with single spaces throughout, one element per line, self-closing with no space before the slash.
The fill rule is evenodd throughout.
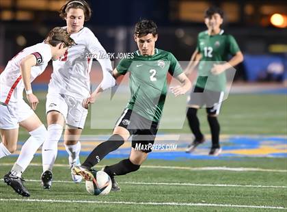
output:
<path id="1" fill-rule="evenodd" d="M 24 179 L 18 176 L 14 176 L 11 172 L 8 172 L 4 176 L 4 182 L 10 185 L 17 194 L 21 196 L 29 197 L 30 193 L 27 188 L 23 185 Z"/>

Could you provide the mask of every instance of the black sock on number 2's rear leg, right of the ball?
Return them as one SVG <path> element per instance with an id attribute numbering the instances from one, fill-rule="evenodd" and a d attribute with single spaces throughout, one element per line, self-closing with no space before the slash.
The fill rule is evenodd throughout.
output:
<path id="1" fill-rule="evenodd" d="M 124 175 L 137 171 L 140 166 L 141 165 L 133 164 L 130 159 L 124 159 L 114 165 L 106 166 L 105 172 L 109 174 L 109 176 Z"/>

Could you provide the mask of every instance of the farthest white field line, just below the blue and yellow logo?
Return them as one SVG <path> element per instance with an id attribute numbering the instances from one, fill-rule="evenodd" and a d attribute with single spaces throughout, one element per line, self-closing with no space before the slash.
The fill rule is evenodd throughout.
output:
<path id="1" fill-rule="evenodd" d="M 0 165 L 14 165 L 14 163 L 0 163 Z M 42 163 L 30 163 L 31 166 L 42 166 Z M 66 167 L 68 164 L 54 164 L 55 167 Z M 105 165 L 97 165 L 97 167 L 104 167 Z M 226 166 L 220 167 L 187 167 L 187 166 L 166 166 L 166 165 L 141 165 L 141 168 L 152 168 L 152 169 L 170 169 L 170 170 L 191 170 L 191 171 L 232 171 L 232 172 L 287 172 L 287 170 L 272 170 L 262 168 L 232 168 Z"/>

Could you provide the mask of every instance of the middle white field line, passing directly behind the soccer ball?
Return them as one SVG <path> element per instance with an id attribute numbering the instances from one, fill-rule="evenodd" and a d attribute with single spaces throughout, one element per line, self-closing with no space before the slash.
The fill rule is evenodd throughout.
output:
<path id="1" fill-rule="evenodd" d="M 0 179 L 3 181 L 3 179 Z M 40 183 L 40 180 L 25 179 L 27 182 Z M 53 183 L 74 183 L 73 181 L 53 181 Z M 82 182 L 84 183 L 84 182 Z M 176 185 L 176 186 L 203 186 L 203 187 L 256 187 L 256 188 L 278 188 L 285 189 L 284 185 L 234 185 L 234 184 L 199 184 L 199 183 L 151 183 L 151 182 L 119 182 L 126 185 Z"/>

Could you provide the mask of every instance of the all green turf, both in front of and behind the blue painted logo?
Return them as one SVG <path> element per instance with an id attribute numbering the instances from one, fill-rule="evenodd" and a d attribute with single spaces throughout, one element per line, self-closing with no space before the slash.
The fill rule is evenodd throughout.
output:
<path id="1" fill-rule="evenodd" d="M 36 113 L 43 122 L 45 94 L 37 93 L 40 105 Z M 113 103 L 104 97 L 99 102 L 109 111 L 111 122 L 120 116 L 126 98 L 119 96 Z M 167 109 L 184 114 L 185 96 L 169 101 Z M 91 129 L 96 104 L 87 117 L 83 135 L 110 134 L 111 129 Z M 221 133 L 228 135 L 286 135 L 287 97 L 275 94 L 232 94 L 223 104 Z M 99 115 L 98 115 L 99 114 Z M 206 114 L 200 110 L 202 130 L 209 134 Z M 174 114 L 170 120 L 178 120 Z M 91 121 L 92 120 L 92 121 Z M 111 127 L 112 128 L 112 127 Z M 190 133 L 187 122 L 182 129 L 161 129 L 164 133 Z M 20 140 L 27 133 L 20 130 Z M 109 165 L 120 159 L 103 160 Z M 0 160 L 0 176 L 12 168 L 16 157 Z M 83 161 L 83 159 L 82 159 Z M 220 160 L 164 161 L 148 160 L 138 172 L 118 176 L 122 191 L 108 196 L 90 196 L 85 185 L 71 182 L 68 160 L 59 157 L 55 166 L 53 187 L 44 191 L 40 186 L 40 157 L 33 159 L 23 175 L 30 198 L 18 196 L 11 187 L 0 182 L 0 211 L 286 211 L 286 158 L 228 158 Z M 101 167 L 99 167 L 101 168 Z M 29 202 L 28 202 L 29 201 Z"/>

